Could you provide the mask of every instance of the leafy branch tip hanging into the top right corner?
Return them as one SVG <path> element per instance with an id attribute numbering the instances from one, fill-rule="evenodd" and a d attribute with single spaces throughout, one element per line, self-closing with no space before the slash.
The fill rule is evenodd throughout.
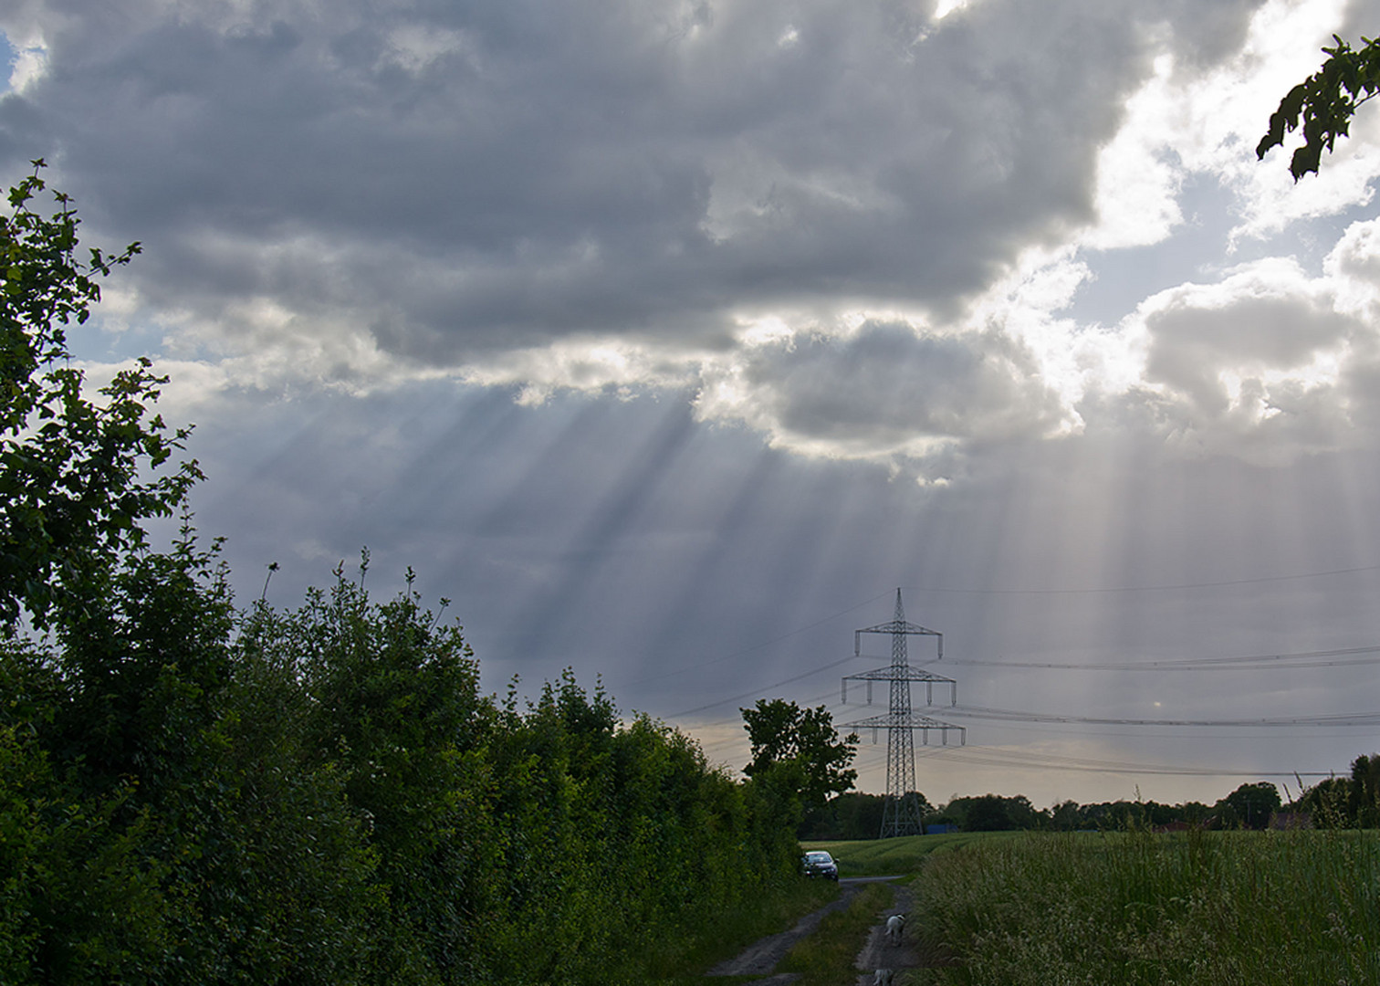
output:
<path id="1" fill-rule="evenodd" d="M 1318 173 L 1322 152 L 1330 152 L 1336 139 L 1348 134 L 1361 104 L 1380 93 L 1380 39 L 1362 37 L 1359 50 L 1336 35 L 1332 39 L 1336 47 L 1322 50 L 1328 61 L 1279 101 L 1279 109 L 1270 115 L 1270 130 L 1256 145 L 1256 157 L 1263 159 L 1283 145 L 1285 131 L 1301 126 L 1303 146 L 1289 160 L 1294 181 Z"/>

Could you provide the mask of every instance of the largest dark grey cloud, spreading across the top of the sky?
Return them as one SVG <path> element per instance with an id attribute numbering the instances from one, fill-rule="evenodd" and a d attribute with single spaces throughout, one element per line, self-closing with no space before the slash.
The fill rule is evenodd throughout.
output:
<path id="1" fill-rule="evenodd" d="M 408 360 L 571 334 L 726 345 L 736 307 L 944 312 L 1092 217 L 1152 28 L 1230 52 L 1245 4 L 26 4 L 0 99 L 141 301 Z M 1191 14 L 1191 15 L 1190 15 Z M 1174 23 L 1177 18 L 1177 23 Z"/>

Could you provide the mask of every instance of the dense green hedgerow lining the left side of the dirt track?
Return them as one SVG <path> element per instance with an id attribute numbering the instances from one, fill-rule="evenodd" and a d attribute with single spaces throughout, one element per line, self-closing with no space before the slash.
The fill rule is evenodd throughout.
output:
<path id="1" fill-rule="evenodd" d="M 411 591 L 101 577 L 0 639 L 0 982 L 647 982 L 796 870 L 789 793 L 569 674 L 480 695 Z"/>

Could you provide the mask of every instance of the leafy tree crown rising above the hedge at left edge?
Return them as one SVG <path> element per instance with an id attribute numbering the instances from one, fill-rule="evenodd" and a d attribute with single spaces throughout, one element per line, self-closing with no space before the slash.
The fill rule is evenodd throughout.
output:
<path id="1" fill-rule="evenodd" d="M 26 610 L 41 628 L 79 584 L 141 548 L 142 522 L 171 515 L 200 472 L 184 463 L 144 475 L 189 431 L 170 435 L 146 413 L 167 383 L 148 359 L 117 373 L 99 399 L 86 395 L 66 327 L 87 320 L 101 297 L 97 279 L 139 244 L 77 260 L 72 200 L 54 192 L 57 210 L 36 210 L 43 159 L 33 166 L 10 189 L 12 213 L 0 217 L 0 623 L 14 627 Z"/>

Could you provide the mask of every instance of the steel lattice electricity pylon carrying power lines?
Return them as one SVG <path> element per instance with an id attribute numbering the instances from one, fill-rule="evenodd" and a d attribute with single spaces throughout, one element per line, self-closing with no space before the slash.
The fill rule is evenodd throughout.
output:
<path id="1" fill-rule="evenodd" d="M 948 746 L 949 731 L 959 735 L 959 744 L 967 739 L 963 726 L 949 725 L 931 719 L 929 715 L 916 715 L 911 711 L 911 682 L 925 682 L 925 704 L 934 704 L 934 682 L 949 686 L 949 704 L 958 703 L 958 682 L 938 674 L 931 674 L 918 667 L 911 667 L 905 656 L 905 638 L 911 635 L 934 637 L 938 645 L 938 657 L 944 659 L 944 634 L 937 630 L 926 630 L 915 623 L 905 621 L 905 610 L 901 608 L 901 590 L 896 590 L 896 619 L 890 623 L 879 623 L 875 627 L 865 627 L 853 632 L 853 653 L 862 656 L 862 634 L 890 634 L 891 635 L 891 663 L 875 671 L 850 674 L 843 678 L 843 702 L 849 700 L 849 682 L 867 682 L 867 702 L 872 704 L 872 682 L 890 682 L 890 707 L 886 715 L 871 715 L 849 726 L 864 726 L 872 729 L 872 742 L 876 743 L 876 731 L 886 729 L 886 800 L 882 802 L 882 838 L 891 835 L 919 835 L 925 831 L 920 822 L 920 802 L 915 790 L 915 731 L 920 731 L 920 743 L 930 742 L 930 731 L 940 733 L 940 740 Z"/>

